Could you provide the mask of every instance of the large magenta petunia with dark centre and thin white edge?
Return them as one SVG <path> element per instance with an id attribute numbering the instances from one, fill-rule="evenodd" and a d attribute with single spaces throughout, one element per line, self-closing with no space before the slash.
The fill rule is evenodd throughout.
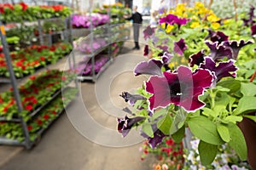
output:
<path id="1" fill-rule="evenodd" d="M 164 77 L 150 77 L 145 83 L 146 91 L 153 94 L 149 99 L 149 109 L 174 104 L 186 111 L 195 111 L 205 104 L 198 99 L 205 88 L 212 85 L 210 71 L 199 69 L 195 72 L 186 66 L 179 66 L 176 72 L 165 71 Z"/>

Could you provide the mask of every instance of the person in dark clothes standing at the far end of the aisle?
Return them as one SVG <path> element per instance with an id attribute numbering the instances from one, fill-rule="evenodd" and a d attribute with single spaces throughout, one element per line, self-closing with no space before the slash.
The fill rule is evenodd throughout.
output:
<path id="1" fill-rule="evenodd" d="M 132 20 L 132 27 L 133 27 L 133 38 L 134 38 L 134 43 L 135 43 L 135 47 L 132 49 L 140 49 L 139 46 L 139 32 L 140 32 L 140 26 L 143 23 L 143 16 L 142 14 L 137 12 L 137 6 L 135 6 L 133 8 L 133 14 L 131 15 L 130 18 L 128 18 L 128 20 Z"/>

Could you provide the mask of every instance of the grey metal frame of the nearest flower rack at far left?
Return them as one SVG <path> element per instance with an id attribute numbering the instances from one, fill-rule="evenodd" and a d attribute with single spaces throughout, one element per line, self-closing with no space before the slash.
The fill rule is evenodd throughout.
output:
<path id="1" fill-rule="evenodd" d="M 49 19 L 49 20 L 52 20 L 52 19 Z M 72 27 L 71 27 L 70 21 L 71 21 L 70 17 L 67 17 L 65 19 L 65 31 L 63 31 L 62 33 L 66 36 L 65 40 L 67 40 L 69 42 L 72 42 L 72 44 L 73 44 L 73 37 L 72 37 L 72 34 L 71 34 L 72 33 L 72 31 L 71 31 Z M 42 20 L 38 20 L 39 39 L 40 39 L 40 43 L 43 44 L 44 41 L 42 41 L 42 40 L 43 40 L 43 36 L 45 36 L 45 35 L 42 34 L 42 27 L 40 25 L 41 22 L 42 22 Z M 69 28 L 69 29 L 67 29 L 67 28 Z M 40 32 L 40 30 L 41 30 L 41 32 Z M 21 102 L 21 99 L 20 99 L 20 92 L 19 92 L 19 88 L 18 88 L 16 77 L 15 77 L 15 72 L 13 70 L 11 58 L 9 56 L 9 47 L 8 47 L 8 43 L 6 41 L 6 32 L 5 32 L 5 29 L 4 29 L 3 22 L 1 20 L 0 20 L 0 38 L 1 38 L 1 41 L 2 41 L 2 44 L 3 44 L 3 54 L 5 56 L 6 63 L 7 63 L 7 66 L 8 66 L 8 70 L 9 70 L 9 75 L 10 75 L 9 78 L 0 78 L 0 82 L 2 82 L 2 83 L 3 82 L 4 83 L 9 83 L 10 82 L 11 83 L 11 86 L 14 89 L 15 101 L 16 101 L 16 105 L 18 107 L 18 112 L 20 113 L 21 111 L 23 111 L 22 102 Z M 71 60 L 69 59 L 68 61 L 69 61 L 69 66 L 71 66 L 72 65 L 71 64 Z M 74 57 L 73 57 L 73 63 L 75 63 L 74 62 Z M 74 78 L 73 81 L 75 82 L 76 87 L 78 87 L 77 80 Z M 73 82 L 73 81 L 71 81 L 71 82 Z M 69 82 L 69 83 L 71 83 L 71 82 Z M 67 86 L 67 84 L 66 84 L 66 86 Z M 65 88 L 60 88 L 59 90 L 57 90 L 55 92 L 55 94 L 52 94 L 51 99 L 49 99 L 49 101 L 47 101 L 46 103 L 44 103 L 44 105 L 41 105 L 40 107 L 38 107 L 35 111 L 33 111 L 31 113 L 30 119 L 33 119 L 34 117 L 38 116 L 39 111 L 42 111 L 42 109 L 46 105 L 49 105 L 49 103 L 51 101 L 56 99 L 56 97 L 59 94 L 61 94 L 61 92 L 63 90 L 65 90 Z M 63 108 L 63 110 L 60 111 L 57 114 L 57 117 L 60 116 L 61 112 L 63 112 L 64 109 L 65 108 Z M 55 119 L 57 119 L 57 117 Z M 53 120 L 53 121 L 55 121 L 55 120 Z M 49 125 L 53 121 L 49 122 Z M 34 140 L 31 140 L 30 139 L 29 131 L 27 129 L 27 124 L 26 124 L 26 121 L 24 120 L 23 116 L 20 116 L 18 114 L 17 116 L 15 116 L 15 118 L 12 118 L 10 120 L 6 119 L 5 117 L 0 117 L 0 122 L 17 122 L 17 123 L 20 123 L 20 125 L 22 127 L 22 131 L 23 131 L 24 137 L 25 137 L 25 139 L 22 142 L 20 142 L 20 141 L 18 141 L 16 139 L 7 139 L 5 137 L 0 137 L 0 144 L 21 145 L 21 146 L 25 146 L 26 149 L 31 149 L 34 144 L 37 144 L 38 143 L 38 139 L 40 139 L 41 134 L 44 133 L 44 131 L 49 127 L 49 125 L 46 128 L 42 127 L 42 129 L 39 130 L 38 133 L 37 133 L 38 134 L 38 138 L 36 138 Z"/>

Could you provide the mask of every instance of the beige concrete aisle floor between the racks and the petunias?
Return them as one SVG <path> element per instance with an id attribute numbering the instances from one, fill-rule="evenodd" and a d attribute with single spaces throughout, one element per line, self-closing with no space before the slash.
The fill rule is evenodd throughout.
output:
<path id="1" fill-rule="evenodd" d="M 133 43 L 125 42 L 122 51 L 125 55 L 115 59 L 96 83 L 79 84 L 80 97 L 67 108 L 67 114 L 61 115 L 44 133 L 41 141 L 32 150 L 0 146 L 0 169 L 150 169 L 154 157 L 140 160 L 139 147 L 142 140 L 136 135 L 128 135 L 127 139 L 122 139 L 116 130 L 116 116 L 124 116 L 121 109 L 127 105 L 119 94 L 124 90 L 132 91 L 133 88 L 141 87 L 146 80 L 146 77 L 134 77 L 132 73 L 137 62 L 144 59 L 143 44 L 141 46 L 141 50 L 131 51 Z M 63 68 L 63 62 L 62 60 L 58 64 L 59 68 Z M 84 105 L 88 115 L 84 115 L 85 110 L 81 105 Z M 104 127 L 104 130 L 90 125 L 89 119 Z M 103 134 L 106 129 L 110 129 L 109 135 Z M 91 134 L 94 135 L 93 138 Z M 121 147 L 122 144 L 126 146 Z"/>

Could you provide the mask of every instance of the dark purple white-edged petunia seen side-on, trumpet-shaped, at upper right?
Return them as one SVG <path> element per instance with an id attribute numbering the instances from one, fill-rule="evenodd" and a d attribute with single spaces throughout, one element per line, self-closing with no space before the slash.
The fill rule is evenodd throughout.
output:
<path id="1" fill-rule="evenodd" d="M 239 53 L 239 50 L 250 44 L 250 43 L 253 43 L 253 41 L 249 40 L 247 42 L 245 42 L 244 40 L 240 40 L 239 42 L 237 42 L 236 40 L 234 41 L 226 41 L 226 42 L 223 42 L 223 45 L 226 47 L 226 48 L 229 48 L 232 52 L 232 58 L 233 59 L 237 59 L 237 56 L 238 56 L 238 53 Z"/>

